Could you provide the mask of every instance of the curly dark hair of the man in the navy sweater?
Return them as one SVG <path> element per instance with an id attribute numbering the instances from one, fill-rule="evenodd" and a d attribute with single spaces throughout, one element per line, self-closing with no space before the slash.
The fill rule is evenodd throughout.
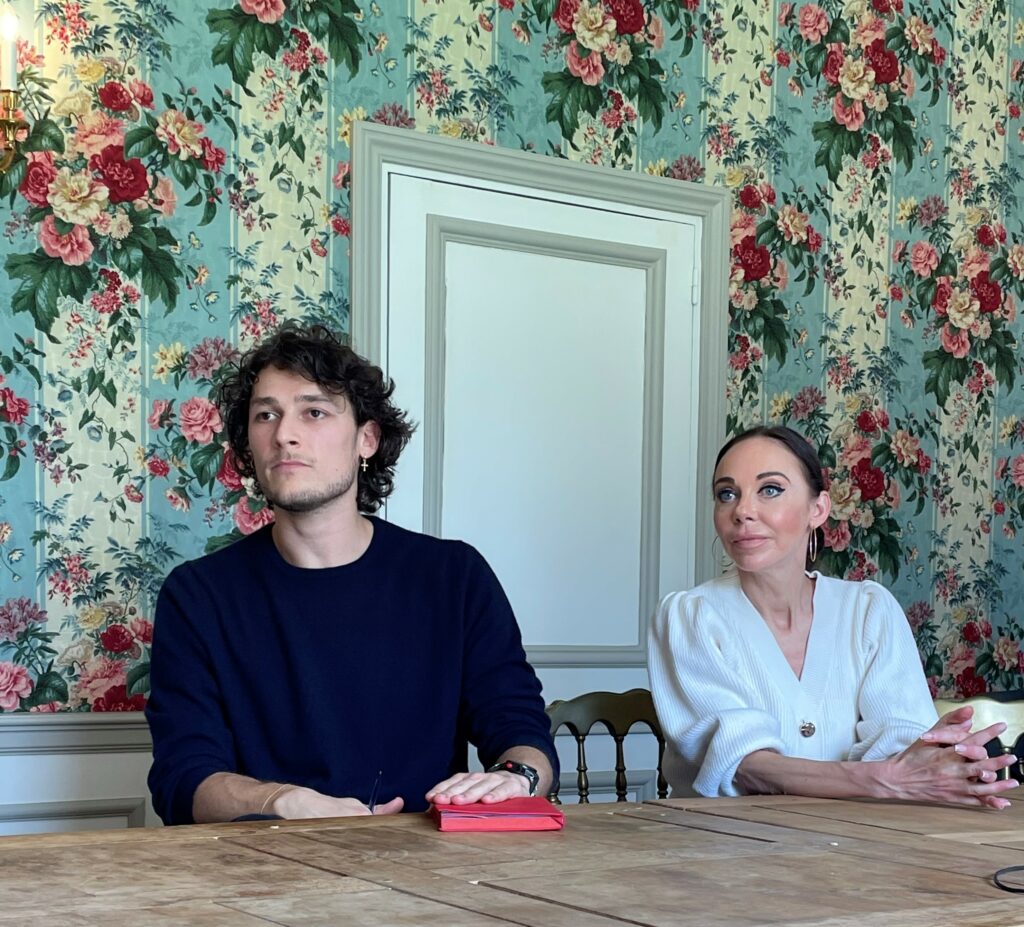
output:
<path id="1" fill-rule="evenodd" d="M 227 440 L 243 476 L 255 476 L 249 447 L 249 403 L 253 386 L 267 367 L 291 371 L 343 395 L 352 406 L 356 425 L 377 422 L 381 430 L 377 453 L 358 472 L 359 511 L 376 512 L 394 489 L 394 468 L 416 426 L 391 403 L 394 383 L 379 367 L 345 344 L 323 325 L 308 328 L 284 323 L 278 331 L 239 362 L 217 387 L 217 406 L 224 420 Z"/>

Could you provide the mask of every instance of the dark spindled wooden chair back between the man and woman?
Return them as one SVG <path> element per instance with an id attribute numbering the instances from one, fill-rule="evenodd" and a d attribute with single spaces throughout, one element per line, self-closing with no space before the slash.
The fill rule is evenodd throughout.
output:
<path id="1" fill-rule="evenodd" d="M 590 804 L 590 777 L 587 772 L 587 734 L 595 724 L 603 724 L 615 743 L 615 800 L 626 801 L 626 758 L 623 742 L 635 724 L 646 724 L 657 740 L 657 797 L 667 798 L 669 784 L 662 773 L 665 736 L 654 713 L 650 691 L 633 688 L 628 692 L 585 692 L 574 699 L 559 700 L 548 706 L 552 735 L 567 727 L 577 743 L 577 793 L 580 804 Z M 560 804 L 558 783 L 552 786 L 551 800 Z"/>

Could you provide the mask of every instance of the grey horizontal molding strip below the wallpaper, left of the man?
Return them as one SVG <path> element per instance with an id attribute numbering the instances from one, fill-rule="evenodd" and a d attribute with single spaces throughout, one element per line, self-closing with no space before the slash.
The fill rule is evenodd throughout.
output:
<path id="1" fill-rule="evenodd" d="M 0 714 L 0 756 L 48 753 L 150 753 L 141 712 Z"/>

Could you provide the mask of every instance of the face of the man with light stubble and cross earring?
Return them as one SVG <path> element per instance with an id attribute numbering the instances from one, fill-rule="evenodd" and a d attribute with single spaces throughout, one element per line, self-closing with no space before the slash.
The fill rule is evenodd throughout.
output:
<path id="1" fill-rule="evenodd" d="M 249 448 L 274 508 L 311 512 L 354 500 L 359 458 L 373 456 L 378 438 L 376 422 L 357 426 L 344 396 L 300 374 L 267 367 L 253 386 Z"/>

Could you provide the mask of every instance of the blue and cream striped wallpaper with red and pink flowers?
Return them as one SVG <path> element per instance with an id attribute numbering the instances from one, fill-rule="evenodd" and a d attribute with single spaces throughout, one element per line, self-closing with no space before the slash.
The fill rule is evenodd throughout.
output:
<path id="1" fill-rule="evenodd" d="M 348 329 L 356 120 L 728 187 L 729 428 L 820 449 L 935 693 L 1024 688 L 1024 0 L 14 7 L 0 711 L 142 708 L 163 577 L 271 517 L 211 397 Z"/>

